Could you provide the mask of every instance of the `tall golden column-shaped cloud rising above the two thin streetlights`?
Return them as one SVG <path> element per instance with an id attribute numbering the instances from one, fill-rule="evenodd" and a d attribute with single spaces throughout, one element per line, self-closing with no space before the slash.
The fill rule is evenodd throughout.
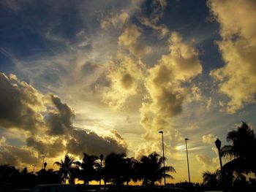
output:
<path id="1" fill-rule="evenodd" d="M 169 47 L 170 53 L 162 55 L 159 63 L 148 69 L 145 80 L 148 95 L 140 108 L 140 123 L 146 130 L 146 139 L 170 128 L 170 118 L 181 112 L 189 91 L 181 83 L 189 82 L 202 72 L 197 50 L 183 42 L 180 34 L 171 34 Z"/>

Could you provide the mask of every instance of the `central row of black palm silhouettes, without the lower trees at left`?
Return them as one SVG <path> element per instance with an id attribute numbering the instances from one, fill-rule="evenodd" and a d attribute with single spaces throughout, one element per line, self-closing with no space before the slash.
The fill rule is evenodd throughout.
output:
<path id="1" fill-rule="evenodd" d="M 167 172 L 175 172 L 172 166 L 162 166 L 164 158 L 157 153 L 143 155 L 140 161 L 127 158 L 124 153 L 110 153 L 106 158 L 100 155 L 83 153 L 83 160 L 75 161 L 71 155 L 66 154 L 64 160 L 56 161 L 61 174 L 61 183 L 75 183 L 75 179 L 83 180 L 84 185 L 90 181 L 103 180 L 104 185 L 111 183 L 116 186 L 129 185 L 130 181 L 142 181 L 143 185 L 155 185 L 163 177 L 173 178 Z"/>

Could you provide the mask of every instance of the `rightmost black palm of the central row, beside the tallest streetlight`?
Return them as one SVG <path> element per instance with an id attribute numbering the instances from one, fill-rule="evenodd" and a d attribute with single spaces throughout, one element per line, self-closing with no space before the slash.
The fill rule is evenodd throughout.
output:
<path id="1" fill-rule="evenodd" d="M 173 166 L 162 166 L 164 158 L 160 157 L 156 152 L 140 158 L 140 177 L 143 180 L 143 185 L 154 185 L 154 183 L 161 182 L 162 178 L 171 178 L 173 176 L 167 172 L 176 172 Z"/>

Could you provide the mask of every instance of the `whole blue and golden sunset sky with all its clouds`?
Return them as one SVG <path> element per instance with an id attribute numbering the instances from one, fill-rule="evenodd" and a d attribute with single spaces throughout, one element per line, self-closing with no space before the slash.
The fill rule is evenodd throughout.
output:
<path id="1" fill-rule="evenodd" d="M 255 129 L 256 1 L 0 1 L 0 164 L 162 154 L 177 183 Z M 224 163 L 228 159 L 223 159 Z"/>

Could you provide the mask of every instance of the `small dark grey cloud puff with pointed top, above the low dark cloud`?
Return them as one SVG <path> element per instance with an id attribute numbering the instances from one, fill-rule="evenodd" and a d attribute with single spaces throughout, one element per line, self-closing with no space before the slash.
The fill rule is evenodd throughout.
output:
<path id="1" fill-rule="evenodd" d="M 48 134 L 61 135 L 72 129 L 71 118 L 75 116 L 74 112 L 67 104 L 61 102 L 56 96 L 50 95 L 50 99 L 56 107 L 56 110 L 49 111 L 45 118 L 46 124 L 49 127 Z"/>

